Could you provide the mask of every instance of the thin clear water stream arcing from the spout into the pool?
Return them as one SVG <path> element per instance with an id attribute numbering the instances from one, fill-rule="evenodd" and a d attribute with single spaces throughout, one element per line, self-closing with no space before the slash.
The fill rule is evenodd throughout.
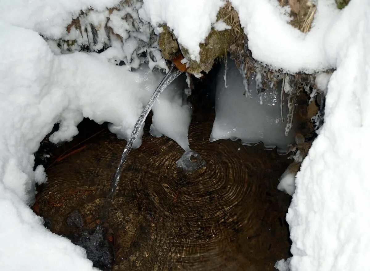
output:
<path id="1" fill-rule="evenodd" d="M 107 197 L 107 204 L 106 206 L 109 206 L 111 201 L 114 198 L 115 191 L 117 189 L 118 181 L 120 180 L 121 171 L 122 171 L 122 165 L 125 163 L 127 155 L 131 151 L 132 144 L 134 143 L 138 132 L 142 126 L 142 124 L 145 121 L 145 118 L 147 118 L 149 111 L 151 110 L 153 104 L 157 100 L 159 94 L 162 93 L 162 91 L 171 84 L 172 81 L 174 81 L 180 74 L 182 74 L 182 71 L 178 70 L 175 65 L 172 65 L 171 69 L 168 71 L 168 73 L 165 75 L 165 77 L 162 79 L 161 83 L 159 83 L 158 87 L 154 91 L 152 97 L 150 98 L 147 106 L 145 106 L 144 110 L 141 112 L 140 117 L 135 123 L 134 130 L 132 130 L 131 136 L 129 140 L 127 141 L 126 147 L 122 153 L 120 164 L 118 164 L 117 170 L 114 174 L 114 179 L 112 183 L 111 190 Z M 108 210 L 108 208 L 105 208 L 105 210 Z"/>

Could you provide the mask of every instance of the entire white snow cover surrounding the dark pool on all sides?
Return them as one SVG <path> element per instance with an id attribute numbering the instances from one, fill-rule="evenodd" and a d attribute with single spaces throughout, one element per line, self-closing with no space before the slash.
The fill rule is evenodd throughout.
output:
<path id="1" fill-rule="evenodd" d="M 290 72 L 336 68 L 327 86 L 325 123 L 297 174 L 287 214 L 293 241 L 289 267 L 368 270 L 370 2 L 351 0 L 337 10 L 334 1 L 318 0 L 307 34 L 287 24 L 287 11 L 277 1 L 231 2 L 256 60 Z M 35 179 L 44 181 L 40 168 L 32 170 L 33 153 L 57 121 L 61 131 L 54 141 L 73 137 L 83 117 L 110 121 L 127 137 L 160 77 L 145 68 L 129 72 L 114 66 L 108 53 L 57 55 L 38 33 L 64 37 L 80 10 L 103 11 L 117 3 L 0 0 L 0 270 L 92 270 L 81 248 L 48 232 L 28 208 Z M 167 23 L 197 59 L 223 3 L 145 0 L 139 14 L 154 27 Z M 188 125 L 180 94 L 162 98 L 166 108 L 179 112 L 182 127 Z"/>

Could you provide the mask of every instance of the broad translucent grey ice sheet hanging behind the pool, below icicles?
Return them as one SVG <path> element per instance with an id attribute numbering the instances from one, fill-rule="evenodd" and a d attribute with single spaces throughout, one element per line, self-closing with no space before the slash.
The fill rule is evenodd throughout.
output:
<path id="1" fill-rule="evenodd" d="M 284 135 L 288 110 L 285 99 L 280 109 L 280 90 L 268 88 L 258 94 L 259 76 L 251 76 L 247 92 L 235 62 L 228 62 L 228 87 L 224 83 L 225 65 L 217 77 L 216 118 L 209 140 L 240 138 L 245 145 L 262 141 L 266 149 L 277 146 L 280 153 L 287 153 L 289 144 L 294 143 L 294 132 Z M 281 115 L 285 116 L 283 120 Z"/>

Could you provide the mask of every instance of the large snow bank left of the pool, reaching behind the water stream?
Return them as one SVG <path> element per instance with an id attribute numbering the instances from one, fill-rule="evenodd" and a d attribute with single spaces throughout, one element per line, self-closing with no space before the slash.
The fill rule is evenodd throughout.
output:
<path id="1" fill-rule="evenodd" d="M 29 262 L 39 255 L 35 270 L 91 270 L 85 252 L 48 232 L 26 205 L 33 200 L 34 180 L 45 180 L 43 168 L 32 170 L 33 153 L 54 123 L 60 129 L 50 140 L 71 140 L 83 117 L 108 121 L 128 138 L 163 74 L 144 65 L 130 72 L 95 53 L 55 56 L 36 32 L 6 23 L 0 23 L 0 32 L 0 269 L 33 270 Z M 170 85 L 161 97 L 171 106 L 153 111 L 159 132 L 187 149 L 190 110 L 182 99 L 183 83 Z M 157 117 L 164 113 L 183 121 L 169 129 L 171 123 Z"/>

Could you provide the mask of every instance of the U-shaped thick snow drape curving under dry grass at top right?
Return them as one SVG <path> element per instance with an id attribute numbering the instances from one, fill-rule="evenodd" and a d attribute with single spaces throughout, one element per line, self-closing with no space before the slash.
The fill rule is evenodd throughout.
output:
<path id="1" fill-rule="evenodd" d="M 356 16 L 345 20 L 335 1 L 320 0 L 312 28 L 304 34 L 287 24 L 289 17 L 278 1 L 231 2 L 248 35 L 253 58 L 291 73 L 335 67 L 340 47 L 359 20 Z"/>

